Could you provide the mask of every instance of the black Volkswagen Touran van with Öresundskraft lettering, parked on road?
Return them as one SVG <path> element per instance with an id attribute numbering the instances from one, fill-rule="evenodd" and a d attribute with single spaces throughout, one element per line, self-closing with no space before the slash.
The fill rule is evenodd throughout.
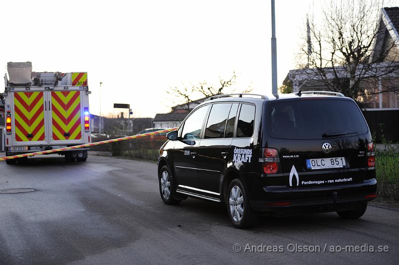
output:
<path id="1" fill-rule="evenodd" d="M 168 133 L 158 172 L 166 204 L 223 202 L 237 228 L 260 213 L 359 218 L 377 190 L 368 125 L 334 92 L 208 98 Z"/>

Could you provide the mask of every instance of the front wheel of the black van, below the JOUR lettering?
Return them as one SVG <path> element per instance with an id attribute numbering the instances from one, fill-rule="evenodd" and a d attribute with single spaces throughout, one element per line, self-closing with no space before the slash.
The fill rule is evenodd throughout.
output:
<path id="1" fill-rule="evenodd" d="M 176 205 L 182 201 L 174 198 L 176 193 L 175 179 L 172 177 L 168 166 L 164 165 L 161 168 L 158 181 L 161 199 L 165 204 Z"/>

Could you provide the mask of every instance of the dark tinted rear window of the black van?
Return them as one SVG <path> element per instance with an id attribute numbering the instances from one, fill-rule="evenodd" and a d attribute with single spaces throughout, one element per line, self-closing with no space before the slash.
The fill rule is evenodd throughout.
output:
<path id="1" fill-rule="evenodd" d="M 368 132 L 361 111 L 348 100 L 299 100 L 268 107 L 268 133 L 274 138 L 323 139 Z"/>

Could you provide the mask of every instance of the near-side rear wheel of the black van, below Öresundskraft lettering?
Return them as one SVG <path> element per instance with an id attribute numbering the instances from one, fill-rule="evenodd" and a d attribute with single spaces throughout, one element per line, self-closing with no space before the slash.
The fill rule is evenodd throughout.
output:
<path id="1" fill-rule="evenodd" d="M 251 208 L 244 183 L 238 178 L 233 179 L 227 192 L 227 213 L 233 226 L 240 229 L 255 226 L 258 214 Z"/>

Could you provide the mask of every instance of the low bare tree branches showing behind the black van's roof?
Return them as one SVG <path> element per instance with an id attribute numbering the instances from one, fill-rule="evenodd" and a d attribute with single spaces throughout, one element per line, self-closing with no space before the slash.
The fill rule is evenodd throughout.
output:
<path id="1" fill-rule="evenodd" d="M 215 95 L 235 92 L 235 89 L 232 89 L 231 87 L 235 84 L 236 77 L 235 72 L 233 72 L 229 79 L 222 79 L 219 77 L 217 85 L 209 85 L 206 81 L 192 84 L 191 86 L 183 84 L 183 87 L 171 87 L 168 94 L 175 99 L 175 105 L 180 103 L 185 106 L 183 109 L 190 111 L 190 103 L 200 98 L 208 98 Z M 244 89 L 242 93 L 248 93 L 250 91 L 252 91 L 252 88 L 248 87 Z"/>

